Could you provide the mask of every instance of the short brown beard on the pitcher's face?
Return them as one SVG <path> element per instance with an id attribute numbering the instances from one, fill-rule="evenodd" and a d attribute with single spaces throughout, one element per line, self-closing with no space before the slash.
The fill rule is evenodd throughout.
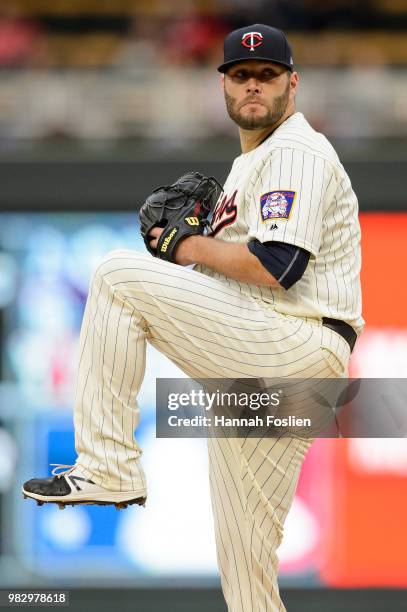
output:
<path id="1" fill-rule="evenodd" d="M 290 82 L 287 83 L 285 91 L 275 98 L 271 106 L 267 106 L 267 113 L 258 116 L 254 112 L 248 115 L 243 115 L 237 108 L 236 99 L 229 95 L 225 88 L 225 102 L 229 117 L 243 130 L 258 130 L 261 128 L 271 127 L 281 119 L 287 110 L 290 95 Z M 249 100 L 257 100 L 257 96 L 248 98 Z M 264 107 L 266 108 L 266 107 Z"/>

